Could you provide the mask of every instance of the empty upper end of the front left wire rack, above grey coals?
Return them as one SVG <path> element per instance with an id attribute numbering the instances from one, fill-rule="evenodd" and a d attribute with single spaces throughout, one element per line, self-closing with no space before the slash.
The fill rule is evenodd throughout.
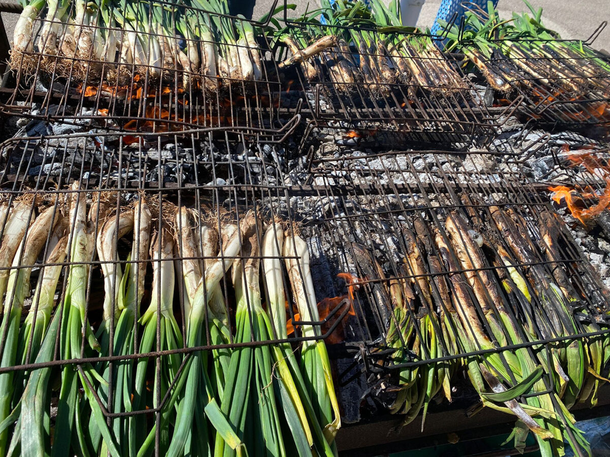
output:
<path id="1" fill-rule="evenodd" d="M 263 150 L 268 147 L 278 154 L 299 122 L 296 115 L 276 130 L 209 127 L 179 133 L 91 130 L 74 124 L 80 131 L 43 136 L 29 135 L 36 129 L 26 127 L 25 133 L 0 143 L 0 183 L 14 182 L 16 190 L 24 185 L 46 189 L 86 179 L 90 186 L 168 188 L 177 187 L 181 176 L 185 187 L 202 182 L 256 184 L 272 181 L 264 174 L 266 167 L 278 182 L 273 172 L 278 163 L 267 160 Z M 34 125 L 51 130 L 73 126 L 40 121 Z"/>

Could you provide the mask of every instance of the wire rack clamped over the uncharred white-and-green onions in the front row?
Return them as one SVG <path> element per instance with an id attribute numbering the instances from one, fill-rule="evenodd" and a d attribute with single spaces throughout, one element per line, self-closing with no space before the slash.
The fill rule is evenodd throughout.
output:
<path id="1" fill-rule="evenodd" d="M 86 151 L 82 146 L 81 150 Z M 294 310 L 289 306 L 293 299 L 301 300 L 296 298 L 298 290 L 292 285 L 296 278 L 305 280 L 308 273 L 304 264 L 293 265 L 281 275 L 288 301 L 281 299 L 279 303 L 282 314 L 287 313 L 284 325 L 288 319 L 288 336 L 269 330 L 267 334 L 238 339 L 235 331 L 240 328 L 253 326 L 260 330 L 260 324 L 255 322 L 255 296 L 249 296 L 252 301 L 248 301 L 240 295 L 246 286 L 248 290 L 259 290 L 256 293 L 260 294 L 269 319 L 278 318 L 271 311 L 271 296 L 265 292 L 271 289 L 266 288 L 262 272 L 259 285 L 259 262 L 266 256 L 267 261 L 278 259 L 281 268 L 282 264 L 288 268 L 290 261 L 301 258 L 296 250 L 291 254 L 290 247 L 286 247 L 290 238 L 285 238 L 284 251 L 280 249 L 275 257 L 259 248 L 267 230 L 264 224 L 268 226 L 269 222 L 281 221 L 270 227 L 287 237 L 297 233 L 293 224 L 298 218 L 290 218 L 292 206 L 284 186 L 253 184 L 247 175 L 240 177 L 240 162 L 231 161 L 231 155 L 225 164 L 227 182 L 219 183 L 220 177 L 216 177 L 210 183 L 199 183 L 195 174 L 188 185 L 182 182 L 180 173 L 175 183 L 163 179 L 149 183 L 138 179 L 138 173 L 143 171 L 135 166 L 136 177 L 132 178 L 125 165 L 129 159 L 125 157 L 123 161 L 121 157 L 121 152 L 117 153 L 118 163 L 113 160 L 112 166 L 102 169 L 99 179 L 85 176 L 88 164 L 84 158 L 79 163 L 73 160 L 70 166 L 63 163 L 53 182 L 43 178 L 42 172 L 33 183 L 7 180 L 6 174 L 2 177 L 0 239 L 6 255 L 0 275 L 7 296 L 0 338 L 0 351 L 4 354 L 0 382 L 12 386 L 6 390 L 10 392 L 2 414 L 10 413 L 13 398 L 23 399 L 26 405 L 31 400 L 29 393 L 38 391 L 44 395 L 37 399 L 42 402 L 38 411 L 50 418 L 56 440 L 65 431 L 60 424 L 74 420 L 70 419 L 70 412 L 62 409 L 71 404 L 84 408 L 87 420 L 91 415 L 90 428 L 77 432 L 86 436 L 89 446 L 96 447 L 96 440 L 101 439 L 96 430 L 103 430 L 100 424 L 106 422 L 112 438 L 104 436 L 104 442 L 126 449 L 127 443 L 117 440 L 120 436 L 126 439 L 127 435 L 117 427 L 127 427 L 127 422 L 135 420 L 142 427 L 138 428 L 138 445 L 150 450 L 154 446 L 156 455 L 163 455 L 167 449 L 167 437 L 162 436 L 168 430 L 167 416 L 178 404 L 176 392 L 184 388 L 187 373 L 192 375 L 190 367 L 198 366 L 193 364 L 207 367 L 207 361 L 202 362 L 201 358 L 213 353 L 218 361 L 223 357 L 222 351 L 270 344 L 279 348 L 284 343 L 297 347 L 307 341 L 320 341 L 334 331 L 349 308 L 346 300 L 337 300 L 319 321 L 307 320 L 302 307 L 297 314 L 296 305 Z M 191 165 L 198 167 L 199 161 L 191 157 Z M 139 160 L 138 165 L 146 165 L 145 154 Z M 249 172 L 256 158 L 244 160 L 242 165 L 248 163 Z M 183 166 L 187 161 L 183 157 L 173 163 Z M 27 169 L 30 162 L 26 158 L 18 168 Z M 163 167 L 171 160 L 152 162 L 151 168 L 156 167 L 159 176 L 163 176 Z M 122 171 L 120 177 L 104 179 L 112 169 Z M 213 163 L 213 169 L 220 173 L 220 160 Z M 76 170 L 81 174 L 80 180 L 73 173 Z M 231 179 L 243 181 L 229 184 Z M 280 207 L 281 213 L 276 210 Z M 253 276 L 244 266 L 246 263 L 256 265 Z M 213 284 L 209 278 L 215 267 L 220 268 L 220 274 Z M 227 270 L 234 272 L 232 277 L 225 277 Z M 199 282 L 186 279 L 193 271 L 199 271 Z M 201 280 L 201 271 L 206 272 L 205 281 Z M 239 271 L 245 272 L 243 283 Z M 130 286 L 132 280 L 138 283 L 137 287 Z M 30 291 L 32 297 L 26 298 Z M 203 291 L 204 308 L 208 310 L 200 316 L 203 321 L 199 333 L 193 330 L 196 291 Z M 212 294 L 214 298 L 210 299 Z M 304 300 L 307 302 L 307 297 Z M 209 308 L 208 302 L 212 303 Z M 242 311 L 247 316 L 241 323 L 237 322 L 240 306 L 247 310 Z M 315 308 L 316 303 L 310 306 Z M 22 314 L 27 316 L 24 321 Z M 75 320 L 77 315 L 81 316 L 80 323 Z M 215 332 L 223 325 L 224 333 Z M 306 327 L 310 333 L 303 331 Z M 212 370 L 211 358 L 209 363 Z M 61 389 L 53 381 L 60 379 Z M 64 385 L 66 379 L 74 384 Z M 188 379 L 190 383 L 192 377 Z M 210 382 L 201 381 L 207 387 Z M 273 395 L 272 389 L 277 386 L 265 386 L 262 395 Z M 66 397 L 68 391 L 77 399 Z M 7 405 L 9 411 L 5 409 Z M 59 405 L 59 409 L 51 405 Z M 76 420 L 81 419 L 77 416 Z M 43 422 L 37 422 L 40 428 L 36 426 L 35 431 L 44 446 L 52 439 L 49 429 L 42 428 Z M 67 437 L 65 443 L 55 441 L 54 446 L 87 448 L 87 444 L 76 440 L 76 435 L 74 439 L 70 433 Z M 19 440 L 18 433 L 9 435 L 12 445 Z"/>

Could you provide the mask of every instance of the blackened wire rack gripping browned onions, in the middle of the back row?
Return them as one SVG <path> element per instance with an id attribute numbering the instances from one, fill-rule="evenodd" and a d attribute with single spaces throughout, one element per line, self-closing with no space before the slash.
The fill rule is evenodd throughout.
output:
<path id="1" fill-rule="evenodd" d="M 298 29 L 294 24 L 298 23 L 290 23 L 290 26 Z M 362 40 L 361 29 L 342 28 L 351 30 Z M 381 34 L 370 33 L 376 42 L 383 41 Z M 281 52 L 278 60 L 285 55 Z M 508 107 L 488 108 L 484 102 L 485 91 L 468 81 L 450 55 L 440 52 L 423 55 L 413 49 L 413 54 L 405 57 L 424 69 L 435 68 L 442 62 L 445 68 L 450 69 L 448 74 L 453 74 L 454 82 L 439 79 L 436 83 L 426 83 L 413 73 L 404 76 L 398 71 L 396 57 L 382 54 L 376 48 L 366 52 L 351 49 L 349 54 L 337 47 L 326 49 L 310 59 L 317 69 L 317 79 L 311 81 L 297 65 L 295 78 L 298 85 L 310 88 L 306 101 L 312 123 L 317 127 L 339 130 L 389 130 L 422 143 L 469 142 L 473 137 L 486 141 L 520 103 L 517 99 Z M 358 65 L 365 59 L 372 62 L 371 68 L 379 73 L 380 62 L 385 62 L 395 78 L 382 79 L 381 82 L 361 79 L 359 74 L 362 71 Z M 347 80 L 343 74 L 332 72 L 334 63 L 341 60 L 353 63 L 355 80 Z"/>

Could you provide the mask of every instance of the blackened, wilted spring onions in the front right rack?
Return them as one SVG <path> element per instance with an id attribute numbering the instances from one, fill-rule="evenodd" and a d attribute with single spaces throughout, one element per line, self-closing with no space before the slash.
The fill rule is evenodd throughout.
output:
<path id="1" fill-rule="evenodd" d="M 531 431 L 542 455 L 563 455 L 564 441 L 587 450 L 569 409 L 597 402 L 610 338 L 570 339 L 600 326 L 578 323 L 573 315 L 581 295 L 558 266 L 566 249 L 561 225 L 545 212 L 536 222 L 500 207 L 479 214 L 471 197 L 463 198 L 465 210 L 447 216 L 446 235 L 422 218 L 401 225 L 405 252 L 395 256 L 403 259 L 398 278 L 387 278 L 369 250 L 353 246 L 359 271 L 379 280 L 376 301 L 391 310 L 390 363 L 404 364 L 393 377 L 390 412 L 408 423 L 423 411 L 423 427 L 435 396 L 451 401 L 451 380 L 462 366 L 485 406 L 517 416 L 515 447 L 525 447 Z M 528 349 L 546 338 L 561 341 L 548 350 Z M 500 350 L 511 345 L 516 349 Z"/>

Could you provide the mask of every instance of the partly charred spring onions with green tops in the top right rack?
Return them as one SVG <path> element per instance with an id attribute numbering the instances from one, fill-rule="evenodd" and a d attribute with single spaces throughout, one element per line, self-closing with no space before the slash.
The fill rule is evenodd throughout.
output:
<path id="1" fill-rule="evenodd" d="M 537 81 L 583 99 L 610 96 L 607 60 L 580 41 L 559 40 L 542 24 L 542 9 L 525 4 L 532 16 L 513 13 L 511 19 L 501 19 L 492 2 L 482 14 L 466 12 L 464 32 L 450 27 L 446 50 L 463 52 L 498 91 Z"/>

